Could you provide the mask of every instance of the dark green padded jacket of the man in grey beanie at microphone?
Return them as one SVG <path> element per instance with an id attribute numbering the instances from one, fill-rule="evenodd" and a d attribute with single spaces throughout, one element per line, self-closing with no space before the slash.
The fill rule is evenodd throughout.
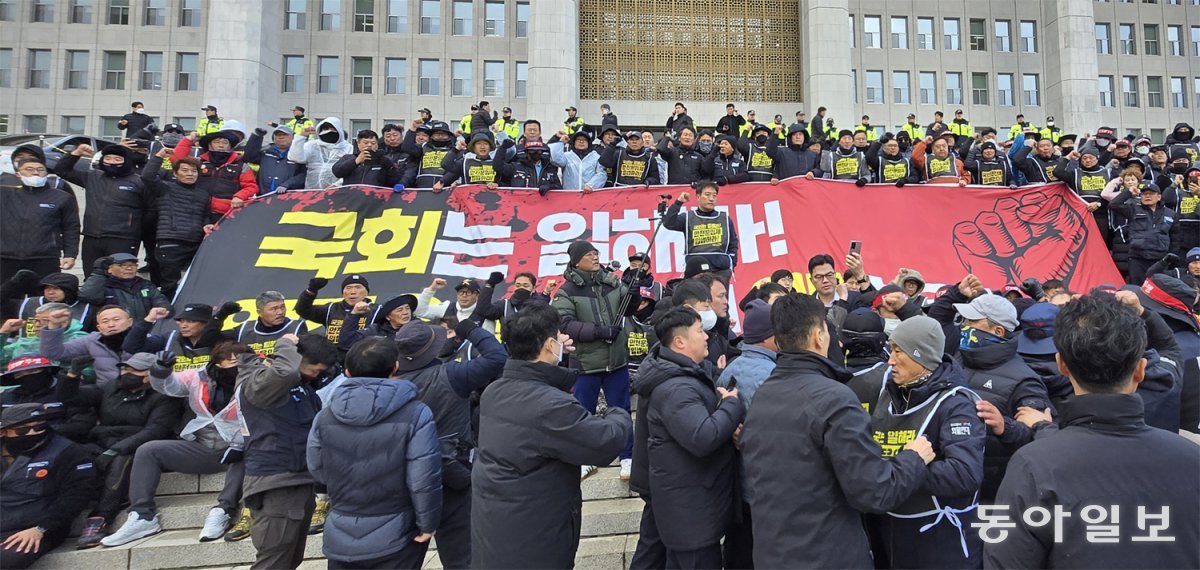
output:
<path id="1" fill-rule="evenodd" d="M 613 323 L 622 326 L 620 301 L 629 294 L 629 287 L 617 278 L 617 274 L 605 270 L 588 272 L 568 268 L 563 277 L 565 282 L 551 306 L 563 319 L 563 332 L 575 341 L 571 367 L 594 374 L 628 366 L 628 332 L 622 329 L 614 341 L 607 342 L 598 337 L 596 328 Z"/>

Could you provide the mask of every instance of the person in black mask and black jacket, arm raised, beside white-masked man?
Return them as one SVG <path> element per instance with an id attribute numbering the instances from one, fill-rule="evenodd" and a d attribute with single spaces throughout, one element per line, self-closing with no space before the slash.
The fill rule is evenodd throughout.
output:
<path id="1" fill-rule="evenodd" d="M 108 145 L 96 169 L 76 170 L 79 158 L 91 158 L 90 145 L 80 144 L 54 164 L 59 178 L 83 186 L 86 204 L 83 215 L 83 264 L 113 252 L 137 254 L 142 241 L 143 217 L 154 208 L 154 197 L 133 172 L 132 155 L 119 144 Z"/>

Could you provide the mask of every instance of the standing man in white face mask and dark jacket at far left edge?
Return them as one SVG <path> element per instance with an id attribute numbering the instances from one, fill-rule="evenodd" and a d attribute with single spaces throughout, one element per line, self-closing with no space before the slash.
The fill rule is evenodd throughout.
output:
<path id="1" fill-rule="evenodd" d="M 73 192 L 49 184 L 46 161 L 16 162 L 0 174 L 0 281 L 28 269 L 37 277 L 74 266 L 79 256 L 79 205 Z"/>

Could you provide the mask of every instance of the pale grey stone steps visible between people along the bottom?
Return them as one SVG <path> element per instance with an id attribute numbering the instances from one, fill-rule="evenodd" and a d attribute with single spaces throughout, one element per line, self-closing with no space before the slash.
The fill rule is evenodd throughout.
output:
<path id="1" fill-rule="evenodd" d="M 617 570 L 628 569 L 637 545 L 637 528 L 642 515 L 642 500 L 630 493 L 629 485 L 620 480 L 620 469 L 605 467 L 584 480 L 583 524 L 580 550 L 575 557 L 576 568 Z M 224 474 L 185 475 L 166 473 L 158 485 L 158 516 L 164 530 L 155 536 L 130 542 L 115 548 L 98 546 L 77 551 L 74 539 L 68 539 L 58 550 L 44 556 L 35 569 L 62 570 L 151 570 L 173 568 L 241 569 L 254 562 L 254 546 L 250 539 L 240 542 L 217 540 L 202 544 L 197 536 L 209 509 L 216 505 L 216 496 L 224 481 Z M 125 522 L 120 514 L 116 524 Z M 77 521 L 76 529 L 82 526 Z M 300 568 L 323 569 L 322 535 L 308 536 L 305 563 Z M 437 538 L 426 557 L 426 569 L 440 569 L 437 557 Z"/>

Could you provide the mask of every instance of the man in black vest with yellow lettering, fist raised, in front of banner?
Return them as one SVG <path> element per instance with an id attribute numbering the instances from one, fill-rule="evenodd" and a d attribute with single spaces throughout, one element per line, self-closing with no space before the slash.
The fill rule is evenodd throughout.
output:
<path id="1" fill-rule="evenodd" d="M 684 233 L 684 257 L 688 260 L 701 258 L 713 266 L 713 272 L 728 283 L 733 268 L 738 264 L 738 234 L 733 229 L 730 215 L 716 210 L 716 194 L 720 186 L 716 182 L 701 182 L 696 186 L 696 200 L 700 208 L 680 211 L 691 194 L 683 192 L 662 217 L 662 227 Z"/>

